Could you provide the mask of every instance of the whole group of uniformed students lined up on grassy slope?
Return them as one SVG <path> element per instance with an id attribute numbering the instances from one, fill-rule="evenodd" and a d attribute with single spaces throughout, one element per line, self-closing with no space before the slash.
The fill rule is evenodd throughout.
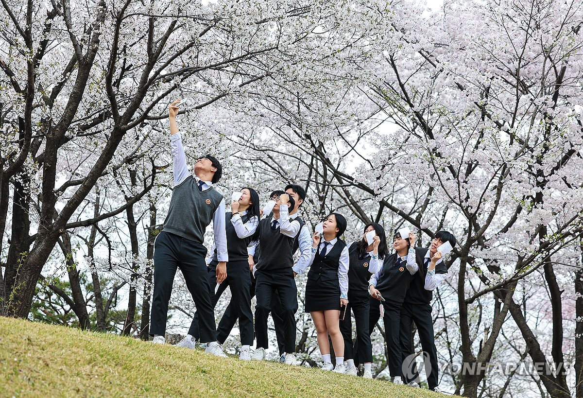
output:
<path id="1" fill-rule="evenodd" d="M 196 161 L 194 176 L 188 171 L 175 121 L 178 110 L 177 102 L 170 104 L 174 190 L 164 228 L 154 245 L 153 342 L 165 341 L 168 302 L 180 268 L 196 313 L 179 346 L 204 344 L 206 352 L 225 357 L 220 344 L 238 319 L 239 358 L 264 360 L 271 313 L 280 361 L 296 364 L 295 278 L 307 273 L 304 312 L 314 320 L 322 369 L 356 376 L 362 364 L 363 377 L 373 378 L 370 336 L 382 317 L 393 382 L 419 387 L 415 372 L 403 370 L 403 363 L 413 354 L 410 338 L 415 323 L 430 360 L 426 369 L 429 388 L 440 391 L 431 299 L 432 291 L 447 276 L 437 248 L 445 242 L 454 246 L 454 236 L 437 232 L 431 246 L 421 248 L 415 246 L 414 233 L 401 236 L 397 232 L 391 252 L 384 229 L 371 222 L 364 227 L 362 239 L 346 245 L 341 239 L 346 219 L 336 212 L 312 234 L 298 217 L 305 191 L 295 184 L 273 191 L 269 197 L 272 206 L 264 210 L 259 207 L 258 193 L 251 187 L 242 188 L 233 196 L 231 211 L 225 212 L 223 195 L 213 187 L 222 174 L 219 161 L 206 155 Z M 215 239 L 207 264 L 203 236 L 211 221 Z M 294 263 L 297 250 L 300 256 Z M 214 308 L 227 287 L 231 301 L 216 327 Z M 251 310 L 254 295 L 255 316 Z M 254 340 L 256 347 L 251 350 Z"/>

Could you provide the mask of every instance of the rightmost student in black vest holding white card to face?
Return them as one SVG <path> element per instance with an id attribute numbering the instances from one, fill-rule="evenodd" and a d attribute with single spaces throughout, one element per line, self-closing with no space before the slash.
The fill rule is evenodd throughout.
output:
<path id="1" fill-rule="evenodd" d="M 413 276 L 405 301 L 401 307 L 401 351 L 403 362 L 413 354 L 411 344 L 412 323 L 415 322 L 419 332 L 419 340 L 423 351 L 429 356 L 431 369 L 426 369 L 427 384 L 429 389 L 441 392 L 438 383 L 439 368 L 437 365 L 437 350 L 433 333 L 433 317 L 431 317 L 431 299 L 433 291 L 447 278 L 447 267 L 442 261 L 441 252 L 437 248 L 443 243 L 449 242 L 455 246 L 455 236 L 448 231 L 439 231 L 431 241 L 429 249 L 416 247 L 416 259 L 419 273 Z M 408 365 L 415 365 L 412 362 Z M 408 372 L 403 374 L 405 383 L 413 387 L 419 387 L 415 382 L 418 374 L 414 366 L 410 366 Z"/>

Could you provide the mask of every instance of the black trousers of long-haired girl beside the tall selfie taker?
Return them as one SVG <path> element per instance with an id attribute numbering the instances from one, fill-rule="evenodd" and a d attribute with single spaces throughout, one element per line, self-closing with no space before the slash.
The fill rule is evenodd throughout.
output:
<path id="1" fill-rule="evenodd" d="M 241 345 L 251 345 L 253 344 L 253 314 L 251 312 L 251 277 L 249 275 L 249 264 L 247 260 L 241 261 L 229 261 L 227 263 L 227 278 L 219 285 L 219 289 L 216 294 L 215 288 L 217 285 L 216 280 L 216 267 L 208 267 L 208 277 L 209 284 L 212 295 L 212 305 L 215 308 L 220 296 L 227 289 L 231 288 L 231 303 L 234 303 L 234 313 L 239 319 L 239 332 L 241 335 Z M 192 318 L 192 323 L 190 324 L 190 329 L 188 334 L 193 336 L 195 340 L 199 340 L 199 319 L 198 310 Z M 218 335 L 218 331 L 217 331 Z"/>

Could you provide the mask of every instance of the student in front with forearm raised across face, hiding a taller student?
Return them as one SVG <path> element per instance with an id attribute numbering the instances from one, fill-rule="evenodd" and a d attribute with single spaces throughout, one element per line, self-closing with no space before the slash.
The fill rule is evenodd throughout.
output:
<path id="1" fill-rule="evenodd" d="M 289 217 L 289 210 L 296 204 L 294 199 L 283 193 L 276 198 L 272 217 L 259 222 L 259 263 L 255 266 L 255 338 L 257 349 L 251 359 L 265 359 L 269 347 L 267 320 L 272 312 L 273 296 L 277 295 L 282 306 L 284 322 L 284 363 L 296 363 L 296 311 L 297 287 L 294 279 L 293 243 L 296 238 L 297 220 Z M 293 226 L 293 224 L 297 224 Z"/>

